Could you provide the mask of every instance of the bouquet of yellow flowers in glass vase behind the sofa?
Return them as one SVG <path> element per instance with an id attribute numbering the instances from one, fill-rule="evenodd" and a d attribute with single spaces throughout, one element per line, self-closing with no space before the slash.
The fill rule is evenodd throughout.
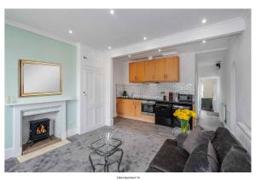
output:
<path id="1" fill-rule="evenodd" d="M 193 110 L 177 109 L 173 115 L 180 120 L 182 132 L 188 132 L 190 118 L 196 118 Z"/>

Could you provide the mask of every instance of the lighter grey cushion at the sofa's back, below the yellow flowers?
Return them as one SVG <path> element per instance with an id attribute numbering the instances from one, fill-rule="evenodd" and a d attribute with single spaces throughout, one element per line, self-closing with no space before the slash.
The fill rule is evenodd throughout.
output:
<path id="1" fill-rule="evenodd" d="M 205 131 L 201 126 L 197 126 L 189 133 L 188 138 L 185 139 L 183 149 L 187 150 L 189 154 L 191 154 L 199 144 L 208 143 L 208 141 L 211 141 L 214 136 L 215 132 Z"/>

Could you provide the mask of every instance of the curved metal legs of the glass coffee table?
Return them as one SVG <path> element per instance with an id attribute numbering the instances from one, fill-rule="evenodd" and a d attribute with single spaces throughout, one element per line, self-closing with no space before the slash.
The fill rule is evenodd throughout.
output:
<path id="1" fill-rule="evenodd" d="M 108 157 L 111 156 L 111 155 L 113 155 L 113 154 L 115 154 L 116 152 L 121 152 L 121 155 L 120 155 L 119 160 L 114 160 L 113 162 L 109 163 Z M 95 166 L 97 166 L 97 165 L 104 166 L 104 172 L 108 172 L 108 167 L 111 166 L 111 165 L 112 165 L 113 163 L 115 163 L 115 162 L 118 162 L 118 171 L 119 171 L 119 172 L 124 172 L 124 169 L 122 169 L 122 170 L 120 171 L 120 164 L 121 164 L 121 161 L 122 161 L 122 158 L 123 158 L 123 155 L 124 155 L 123 149 L 114 149 L 113 152 L 110 153 L 110 154 L 100 155 L 100 156 L 104 157 L 104 161 L 105 161 L 104 164 L 102 164 L 102 163 L 97 163 L 97 164 L 94 165 L 93 162 L 92 162 L 92 160 L 91 160 L 91 155 L 100 155 L 100 154 L 98 154 L 96 151 L 93 151 L 93 152 L 91 152 L 90 155 L 89 155 L 89 160 L 90 160 L 90 165 L 91 165 L 91 168 L 92 168 L 92 172 L 95 172 L 95 171 L 96 171 L 96 167 L 95 167 Z"/>

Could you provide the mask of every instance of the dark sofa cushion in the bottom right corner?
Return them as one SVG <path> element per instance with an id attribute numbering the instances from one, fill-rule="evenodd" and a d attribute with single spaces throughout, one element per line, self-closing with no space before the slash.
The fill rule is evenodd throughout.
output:
<path id="1" fill-rule="evenodd" d="M 220 172 L 251 172 L 251 158 L 239 146 L 232 146 L 224 157 Z"/>

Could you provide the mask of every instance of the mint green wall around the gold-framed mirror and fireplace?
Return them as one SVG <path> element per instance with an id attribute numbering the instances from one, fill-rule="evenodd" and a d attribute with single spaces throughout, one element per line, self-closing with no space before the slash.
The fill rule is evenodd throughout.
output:
<path id="1" fill-rule="evenodd" d="M 62 65 L 63 93 L 56 96 L 19 98 L 18 60 L 32 59 L 60 63 Z M 55 41 L 30 31 L 5 25 L 5 103 L 8 96 L 16 102 L 32 102 L 53 98 L 76 98 L 76 47 L 65 42 Z M 12 107 L 5 106 L 5 148 L 12 146 L 13 115 Z M 76 101 L 67 103 L 67 129 L 76 127 Z"/>

